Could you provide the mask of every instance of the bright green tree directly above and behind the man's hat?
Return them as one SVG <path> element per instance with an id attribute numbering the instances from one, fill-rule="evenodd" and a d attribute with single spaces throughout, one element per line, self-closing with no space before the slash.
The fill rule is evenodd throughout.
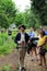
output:
<path id="1" fill-rule="evenodd" d="M 23 12 L 17 12 L 15 16 L 15 25 L 19 26 L 21 24 L 25 25 L 25 16 Z"/>

